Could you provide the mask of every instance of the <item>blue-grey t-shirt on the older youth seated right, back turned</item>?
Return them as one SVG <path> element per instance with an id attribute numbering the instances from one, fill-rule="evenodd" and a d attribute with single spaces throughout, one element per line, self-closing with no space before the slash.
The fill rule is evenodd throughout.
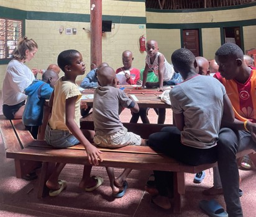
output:
<path id="1" fill-rule="evenodd" d="M 223 113 L 225 87 L 211 76 L 195 76 L 170 91 L 173 113 L 183 113 L 181 143 L 194 148 L 216 145 Z"/>

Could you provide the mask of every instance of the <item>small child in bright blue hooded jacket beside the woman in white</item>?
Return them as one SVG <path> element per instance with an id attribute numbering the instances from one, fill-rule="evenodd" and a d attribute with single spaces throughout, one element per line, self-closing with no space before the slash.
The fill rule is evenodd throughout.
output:
<path id="1" fill-rule="evenodd" d="M 50 99 L 57 80 L 58 74 L 47 70 L 43 73 L 42 81 L 34 80 L 25 89 L 25 95 L 28 95 L 28 97 L 22 115 L 22 122 L 34 139 L 37 139 L 39 126 L 42 125 L 43 105 L 46 99 Z"/>

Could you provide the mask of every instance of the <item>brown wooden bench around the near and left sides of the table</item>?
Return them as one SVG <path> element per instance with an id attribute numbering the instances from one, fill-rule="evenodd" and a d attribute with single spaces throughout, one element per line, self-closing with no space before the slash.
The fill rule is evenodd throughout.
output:
<path id="1" fill-rule="evenodd" d="M 22 178 L 32 169 L 42 164 L 42 171 L 39 179 L 39 190 L 37 197 L 42 198 L 48 195 L 48 188 L 45 182 L 52 172 L 56 162 L 70 164 L 86 164 L 88 160 L 86 151 L 81 145 L 67 149 L 53 149 L 45 141 L 35 140 L 29 131 L 24 130 L 21 120 L 1 119 L 1 135 L 6 148 L 6 157 L 14 159 L 16 177 Z M 86 125 L 86 126 L 85 126 Z M 150 133 L 160 131 L 166 125 L 145 125 L 145 124 L 125 124 L 128 130 L 140 131 L 143 138 L 147 138 Z M 81 127 L 92 128 L 93 123 L 81 122 Z M 141 131 L 143 127 L 143 131 Z M 137 131 L 136 131 L 137 129 Z M 140 130 L 139 130 L 140 129 Z M 201 166 L 188 166 L 154 151 L 148 146 L 126 146 L 119 149 L 102 149 L 103 162 L 99 166 L 111 166 L 131 168 L 138 170 L 164 170 L 172 171 L 174 178 L 173 212 L 181 213 L 181 195 L 185 194 L 185 172 L 195 174 L 202 170 L 216 166 L 214 164 L 204 164 Z M 252 153 L 252 151 L 246 154 Z"/>

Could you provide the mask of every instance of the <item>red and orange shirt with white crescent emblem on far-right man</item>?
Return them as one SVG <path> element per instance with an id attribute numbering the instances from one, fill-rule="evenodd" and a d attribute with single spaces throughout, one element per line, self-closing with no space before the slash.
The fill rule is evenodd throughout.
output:
<path id="1" fill-rule="evenodd" d="M 220 73 L 214 74 L 224 87 L 226 88 L 227 96 L 231 100 L 235 118 L 242 122 L 249 120 L 256 123 L 256 69 L 250 73 L 249 79 L 241 84 L 234 79 L 226 80 L 222 78 Z"/>

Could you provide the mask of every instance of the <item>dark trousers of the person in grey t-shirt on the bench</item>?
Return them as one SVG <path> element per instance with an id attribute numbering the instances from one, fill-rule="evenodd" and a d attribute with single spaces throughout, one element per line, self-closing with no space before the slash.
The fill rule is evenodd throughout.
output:
<path id="1" fill-rule="evenodd" d="M 180 130 L 174 126 L 165 127 L 160 132 L 149 136 L 149 146 L 185 164 L 198 166 L 216 162 L 217 146 L 199 149 L 185 146 L 180 141 Z M 173 172 L 154 171 L 154 174 L 159 194 L 162 196 L 172 195 Z"/>

